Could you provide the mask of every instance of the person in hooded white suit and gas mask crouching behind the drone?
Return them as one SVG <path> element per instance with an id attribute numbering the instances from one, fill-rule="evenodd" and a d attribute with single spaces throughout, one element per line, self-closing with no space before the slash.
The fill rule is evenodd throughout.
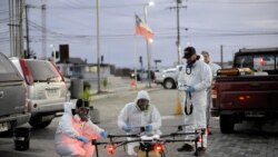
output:
<path id="1" fill-rule="evenodd" d="M 150 104 L 149 94 L 140 90 L 133 102 L 127 104 L 118 116 L 118 126 L 127 134 L 140 134 L 145 129 L 147 134 L 160 135 L 161 117 L 158 109 Z M 135 138 L 128 137 L 128 140 Z M 139 143 L 128 144 L 128 155 L 136 156 L 135 148 Z"/>

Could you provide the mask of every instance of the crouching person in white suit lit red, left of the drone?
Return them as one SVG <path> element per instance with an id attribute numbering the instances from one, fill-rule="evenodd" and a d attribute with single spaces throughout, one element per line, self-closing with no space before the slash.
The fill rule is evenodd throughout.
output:
<path id="1" fill-rule="evenodd" d="M 91 140 L 107 135 L 90 120 L 88 101 L 66 102 L 54 135 L 56 151 L 61 157 L 92 157 L 95 146 Z"/>

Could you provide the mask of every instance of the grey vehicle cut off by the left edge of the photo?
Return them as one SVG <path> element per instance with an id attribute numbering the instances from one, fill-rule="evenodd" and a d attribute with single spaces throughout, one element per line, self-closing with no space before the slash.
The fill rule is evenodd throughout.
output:
<path id="1" fill-rule="evenodd" d="M 0 52 L 0 133 L 29 121 L 24 79 L 12 62 Z"/>

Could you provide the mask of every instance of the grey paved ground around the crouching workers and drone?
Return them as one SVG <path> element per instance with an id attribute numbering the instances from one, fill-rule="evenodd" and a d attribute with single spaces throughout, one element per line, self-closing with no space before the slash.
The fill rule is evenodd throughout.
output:
<path id="1" fill-rule="evenodd" d="M 109 98 L 97 99 L 93 107 L 100 111 L 100 127 L 107 129 L 109 134 L 122 134 L 117 127 L 117 116 L 126 102 L 133 101 L 136 92 L 113 95 Z M 176 130 L 182 124 L 182 117 L 175 115 L 177 105 L 177 91 L 165 90 L 162 88 L 151 90 L 151 102 L 157 106 L 162 116 L 163 134 Z M 58 157 L 53 149 L 53 135 L 59 118 L 46 129 L 32 129 L 30 149 L 27 151 L 13 150 L 11 137 L 0 138 L 0 157 Z M 26 125 L 29 127 L 28 125 Z M 244 122 L 236 125 L 235 134 L 222 135 L 219 130 L 218 118 L 211 120 L 212 135 L 208 137 L 208 150 L 206 157 L 276 157 L 278 154 L 278 125 L 277 121 Z M 193 156 L 192 153 L 177 153 L 181 143 L 166 145 L 167 157 Z M 108 154 L 103 146 L 99 147 L 100 157 L 125 157 L 126 153 L 121 147 L 116 149 L 113 155 Z M 96 156 L 96 155 L 95 155 Z"/>

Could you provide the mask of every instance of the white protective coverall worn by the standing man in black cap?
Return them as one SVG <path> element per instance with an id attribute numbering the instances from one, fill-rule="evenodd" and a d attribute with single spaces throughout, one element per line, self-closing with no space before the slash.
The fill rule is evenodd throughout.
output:
<path id="1" fill-rule="evenodd" d="M 179 73 L 178 87 L 183 85 L 191 86 L 195 88 L 195 91 L 191 92 L 191 102 L 193 106 L 191 115 L 185 115 L 185 125 L 186 133 L 195 133 L 196 129 L 207 128 L 206 122 L 206 108 L 207 108 L 207 88 L 211 85 L 211 70 L 209 66 L 201 60 L 197 60 L 192 68 L 191 72 L 186 72 L 187 65 L 182 67 L 182 70 Z M 183 97 L 183 102 L 186 101 L 187 95 Z M 185 105 L 185 104 L 182 104 Z M 188 107 L 189 108 L 189 107 Z M 195 136 L 186 136 L 186 139 L 192 139 Z M 207 135 L 202 138 L 202 147 L 207 147 Z M 192 143 L 188 143 L 192 144 Z M 201 147 L 201 144 L 198 144 L 198 147 Z"/>

